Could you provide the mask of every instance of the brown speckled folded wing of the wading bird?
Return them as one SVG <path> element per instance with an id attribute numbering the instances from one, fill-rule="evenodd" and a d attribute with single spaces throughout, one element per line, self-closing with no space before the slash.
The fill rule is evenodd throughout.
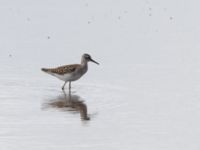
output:
<path id="1" fill-rule="evenodd" d="M 65 66 L 60 66 L 57 68 L 50 68 L 50 69 L 42 68 L 42 71 L 63 75 L 63 74 L 74 72 L 78 66 L 79 66 L 78 64 L 74 64 L 74 65 L 65 65 Z"/>

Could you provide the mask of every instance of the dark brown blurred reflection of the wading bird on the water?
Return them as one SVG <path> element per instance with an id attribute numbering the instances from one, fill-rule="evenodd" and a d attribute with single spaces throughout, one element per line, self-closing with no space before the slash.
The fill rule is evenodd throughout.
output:
<path id="1" fill-rule="evenodd" d="M 78 95 L 72 95 L 71 91 L 66 94 L 59 95 L 57 98 L 50 99 L 48 103 L 45 104 L 45 108 L 52 107 L 61 109 L 63 111 L 79 112 L 81 120 L 90 120 L 87 114 L 87 105 L 81 100 Z"/>

